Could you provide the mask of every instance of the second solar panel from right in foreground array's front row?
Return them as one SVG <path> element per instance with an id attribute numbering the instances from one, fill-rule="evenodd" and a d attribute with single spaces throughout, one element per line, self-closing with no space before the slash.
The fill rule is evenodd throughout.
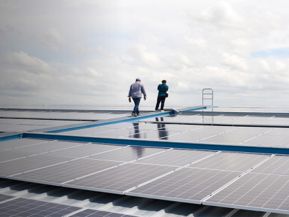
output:
<path id="1" fill-rule="evenodd" d="M 203 198 L 240 174 L 241 172 L 184 167 L 125 194 L 201 204 Z"/>

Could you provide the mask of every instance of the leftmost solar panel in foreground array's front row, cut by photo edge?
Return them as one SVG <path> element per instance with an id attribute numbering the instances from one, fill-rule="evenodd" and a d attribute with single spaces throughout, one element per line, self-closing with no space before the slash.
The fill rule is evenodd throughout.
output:
<path id="1" fill-rule="evenodd" d="M 56 163 L 63 163 L 69 160 L 71 160 L 71 158 L 36 155 L 14 161 L 6 161 L 4 163 L 0 163 L 0 177 L 7 178 L 7 176 L 28 172 L 32 169 L 47 167 Z"/>

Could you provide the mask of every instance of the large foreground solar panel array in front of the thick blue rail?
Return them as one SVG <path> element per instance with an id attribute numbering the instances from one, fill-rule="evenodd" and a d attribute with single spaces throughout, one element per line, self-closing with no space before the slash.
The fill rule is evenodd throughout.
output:
<path id="1" fill-rule="evenodd" d="M 2 142 L 0 147 L 11 142 Z M 252 200 L 252 205 L 260 210 L 276 209 L 277 212 L 285 209 L 287 202 L 284 197 L 289 197 L 286 192 L 289 185 L 288 156 L 28 138 L 14 142 L 17 143 L 14 149 L 2 152 L 31 156 L 11 156 L 10 161 L 0 163 L 1 177 L 186 203 L 245 206 L 248 209 L 254 207 L 239 202 L 242 200 L 234 200 L 234 196 L 239 198 L 242 192 L 247 198 L 251 195 L 248 192 L 254 189 L 261 191 L 260 196 L 264 192 L 268 198 L 268 194 L 277 189 L 280 194 L 283 192 L 274 197 L 283 199 L 282 203 L 277 200 L 278 207 L 258 205 L 261 202 L 257 201 L 264 201 L 261 198 Z M 29 142 L 32 145 L 28 145 Z M 63 152 L 63 155 L 58 152 Z M 275 188 L 270 188 L 268 183 L 275 183 L 272 185 Z M 231 194 L 237 189 L 239 192 Z M 233 198 L 223 199 L 230 197 Z M 289 213 L 289 207 L 286 212 Z"/>

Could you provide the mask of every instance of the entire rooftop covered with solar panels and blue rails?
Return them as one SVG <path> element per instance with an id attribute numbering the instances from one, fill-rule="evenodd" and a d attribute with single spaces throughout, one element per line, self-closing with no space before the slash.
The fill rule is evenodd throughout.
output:
<path id="1" fill-rule="evenodd" d="M 1 105 L 0 214 L 288 216 L 289 107 L 167 107 Z"/>

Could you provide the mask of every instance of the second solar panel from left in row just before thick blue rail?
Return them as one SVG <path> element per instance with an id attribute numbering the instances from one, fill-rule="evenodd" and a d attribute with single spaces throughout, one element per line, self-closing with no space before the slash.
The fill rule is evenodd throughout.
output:
<path id="1" fill-rule="evenodd" d="M 76 146 L 81 146 L 81 145 L 85 145 L 85 143 L 52 141 L 50 143 L 43 143 L 43 144 L 32 145 L 28 147 L 19 147 L 17 149 L 14 149 L 14 151 L 40 154 L 40 153 L 45 153 L 45 152 L 51 152 L 57 149 L 66 149 L 69 147 L 76 147 Z"/>

